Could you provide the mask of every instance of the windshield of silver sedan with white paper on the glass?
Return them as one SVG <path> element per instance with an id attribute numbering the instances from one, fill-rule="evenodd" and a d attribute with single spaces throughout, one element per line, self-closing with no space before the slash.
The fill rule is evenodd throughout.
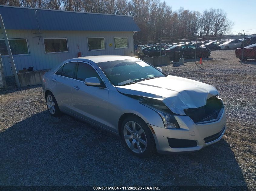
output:
<path id="1" fill-rule="evenodd" d="M 111 84 L 127 85 L 151 78 L 165 77 L 158 69 L 140 59 L 97 63 Z"/>

